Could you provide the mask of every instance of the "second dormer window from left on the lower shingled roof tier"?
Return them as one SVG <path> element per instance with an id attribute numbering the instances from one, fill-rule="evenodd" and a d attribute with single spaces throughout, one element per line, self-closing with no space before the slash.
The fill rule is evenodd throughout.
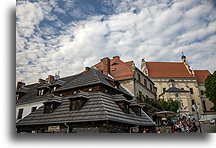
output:
<path id="1" fill-rule="evenodd" d="M 76 93 L 73 96 L 68 97 L 70 100 L 70 111 L 81 110 L 89 99 L 88 95 L 84 92 Z"/>

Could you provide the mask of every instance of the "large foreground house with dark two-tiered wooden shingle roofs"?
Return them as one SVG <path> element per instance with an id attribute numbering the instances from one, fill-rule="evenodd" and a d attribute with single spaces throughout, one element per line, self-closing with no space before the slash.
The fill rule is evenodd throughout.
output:
<path id="1" fill-rule="evenodd" d="M 129 133 L 155 130 L 152 119 L 121 86 L 102 72 L 86 68 L 78 75 L 48 79 L 18 88 L 21 106 L 38 109 L 16 123 L 17 132 Z M 21 91 L 22 90 L 22 91 Z M 42 105 L 41 105 L 42 102 Z M 22 112 L 25 112 L 23 108 Z M 21 114 L 21 113 L 20 113 Z"/>

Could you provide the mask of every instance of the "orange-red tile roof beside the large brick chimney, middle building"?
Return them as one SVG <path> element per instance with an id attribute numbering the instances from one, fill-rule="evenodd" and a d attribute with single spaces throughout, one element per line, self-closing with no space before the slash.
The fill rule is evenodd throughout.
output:
<path id="1" fill-rule="evenodd" d="M 110 75 L 116 79 L 129 79 L 134 78 L 134 72 L 131 69 L 133 61 L 123 62 L 119 57 L 110 59 Z M 103 63 L 99 62 L 96 65 L 98 70 L 103 70 Z"/>

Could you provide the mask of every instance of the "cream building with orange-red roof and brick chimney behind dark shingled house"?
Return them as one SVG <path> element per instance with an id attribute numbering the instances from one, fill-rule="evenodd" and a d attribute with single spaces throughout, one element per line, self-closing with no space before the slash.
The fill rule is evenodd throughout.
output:
<path id="1" fill-rule="evenodd" d="M 114 56 L 113 59 L 106 57 L 94 68 L 112 76 L 134 97 L 143 94 L 146 98 L 156 98 L 155 84 L 135 66 L 133 61 L 123 62 L 119 56 Z"/>

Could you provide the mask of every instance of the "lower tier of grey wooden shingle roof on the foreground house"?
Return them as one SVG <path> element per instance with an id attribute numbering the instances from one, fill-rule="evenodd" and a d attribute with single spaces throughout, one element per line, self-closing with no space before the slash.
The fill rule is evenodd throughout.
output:
<path id="1" fill-rule="evenodd" d="M 115 103 L 115 96 L 102 92 L 89 92 L 88 101 L 81 110 L 69 110 L 69 99 L 62 98 L 62 103 L 52 113 L 43 113 L 44 106 L 17 122 L 21 125 L 41 125 L 54 123 L 79 123 L 88 121 L 116 121 L 120 123 L 154 126 L 153 121 L 141 111 L 137 116 L 131 109 L 124 113 Z"/>

